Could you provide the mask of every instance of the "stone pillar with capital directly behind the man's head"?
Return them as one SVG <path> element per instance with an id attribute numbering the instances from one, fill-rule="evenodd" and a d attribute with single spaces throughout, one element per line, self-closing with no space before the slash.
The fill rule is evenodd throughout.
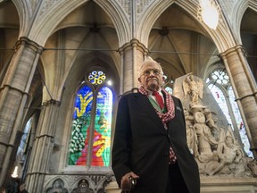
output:
<path id="1" fill-rule="evenodd" d="M 137 39 L 121 46 L 118 50 L 121 56 L 120 94 L 130 92 L 138 87 L 138 71 L 148 53 L 148 49 Z"/>

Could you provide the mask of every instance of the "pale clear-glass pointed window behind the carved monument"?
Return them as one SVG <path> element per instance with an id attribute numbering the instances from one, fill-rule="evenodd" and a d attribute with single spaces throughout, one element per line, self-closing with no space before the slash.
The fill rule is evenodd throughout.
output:
<path id="1" fill-rule="evenodd" d="M 245 124 L 236 104 L 236 97 L 226 69 L 217 68 L 211 71 L 209 77 L 206 79 L 206 84 L 211 90 L 212 96 L 214 96 L 220 105 L 220 109 L 222 109 L 228 123 L 235 131 L 236 137 L 240 138 L 246 155 L 253 157 L 253 153 L 250 151 L 249 139 L 245 131 Z"/>

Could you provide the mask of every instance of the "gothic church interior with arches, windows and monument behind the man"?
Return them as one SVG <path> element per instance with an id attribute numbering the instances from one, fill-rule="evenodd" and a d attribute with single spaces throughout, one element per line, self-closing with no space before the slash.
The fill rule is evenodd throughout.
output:
<path id="1" fill-rule="evenodd" d="M 147 56 L 184 106 L 201 192 L 257 192 L 256 0 L 0 0 L 0 187 L 120 192 L 117 105 Z"/>

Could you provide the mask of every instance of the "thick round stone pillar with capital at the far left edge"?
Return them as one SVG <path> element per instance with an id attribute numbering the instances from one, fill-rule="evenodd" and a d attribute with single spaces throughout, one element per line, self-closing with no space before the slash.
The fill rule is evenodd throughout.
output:
<path id="1" fill-rule="evenodd" d="M 0 86 L 0 186 L 11 173 L 12 156 L 17 147 L 15 141 L 21 140 L 22 117 L 29 95 L 29 88 L 39 55 L 43 47 L 20 38 L 14 47 L 14 54 Z M 17 134 L 18 133 L 18 134 Z M 19 139 L 20 138 L 20 139 Z"/>

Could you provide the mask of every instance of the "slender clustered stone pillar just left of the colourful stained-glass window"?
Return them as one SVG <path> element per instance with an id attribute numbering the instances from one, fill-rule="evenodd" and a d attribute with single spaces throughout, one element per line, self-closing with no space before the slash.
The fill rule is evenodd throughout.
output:
<path id="1" fill-rule="evenodd" d="M 53 99 L 42 105 L 34 139 L 26 185 L 29 192 L 42 192 L 49 159 L 54 147 L 54 133 L 60 102 Z"/>

